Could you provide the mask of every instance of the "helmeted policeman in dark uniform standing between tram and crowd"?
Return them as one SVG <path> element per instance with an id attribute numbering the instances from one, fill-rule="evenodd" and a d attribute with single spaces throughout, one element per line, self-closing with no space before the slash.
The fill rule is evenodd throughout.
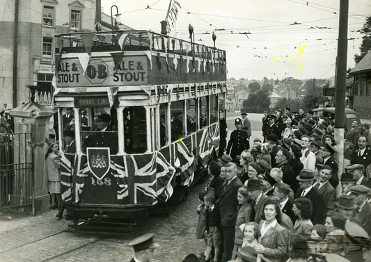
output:
<path id="1" fill-rule="evenodd" d="M 242 131 L 242 120 L 240 118 L 236 118 L 235 126 L 236 130 L 230 134 L 227 146 L 227 154 L 229 154 L 233 160 L 250 146 L 247 133 Z"/>

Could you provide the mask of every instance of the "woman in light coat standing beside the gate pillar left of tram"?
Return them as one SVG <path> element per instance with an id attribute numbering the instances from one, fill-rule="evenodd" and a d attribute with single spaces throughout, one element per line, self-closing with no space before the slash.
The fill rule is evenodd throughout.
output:
<path id="1" fill-rule="evenodd" d="M 52 206 L 58 202 L 57 218 L 62 218 L 63 204 L 61 195 L 61 156 L 59 156 L 59 146 L 57 143 L 50 145 L 45 156 L 47 162 L 47 176 L 49 193 L 52 195 Z"/>

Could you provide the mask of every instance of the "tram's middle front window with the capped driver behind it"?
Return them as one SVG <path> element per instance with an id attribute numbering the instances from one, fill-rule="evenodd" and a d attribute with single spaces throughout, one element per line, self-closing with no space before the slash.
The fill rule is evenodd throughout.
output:
<path id="1" fill-rule="evenodd" d="M 83 108 L 81 119 L 81 150 L 87 147 L 109 147 L 110 154 L 118 152 L 117 113 L 109 107 Z"/>

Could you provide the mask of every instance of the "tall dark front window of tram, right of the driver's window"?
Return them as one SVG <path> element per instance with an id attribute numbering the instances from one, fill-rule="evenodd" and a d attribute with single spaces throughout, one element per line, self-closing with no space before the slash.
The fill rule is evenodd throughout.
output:
<path id="1" fill-rule="evenodd" d="M 147 151 L 145 108 L 132 106 L 124 109 L 125 152 L 141 154 Z"/>

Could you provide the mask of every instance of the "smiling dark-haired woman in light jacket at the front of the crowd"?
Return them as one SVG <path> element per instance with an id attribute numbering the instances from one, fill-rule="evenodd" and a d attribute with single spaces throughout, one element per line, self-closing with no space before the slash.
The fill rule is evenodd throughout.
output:
<path id="1" fill-rule="evenodd" d="M 283 262 L 287 259 L 289 231 L 281 226 L 281 208 L 271 199 L 264 203 L 263 220 L 260 221 L 260 245 L 255 247 L 272 262 Z"/>

